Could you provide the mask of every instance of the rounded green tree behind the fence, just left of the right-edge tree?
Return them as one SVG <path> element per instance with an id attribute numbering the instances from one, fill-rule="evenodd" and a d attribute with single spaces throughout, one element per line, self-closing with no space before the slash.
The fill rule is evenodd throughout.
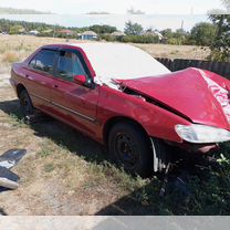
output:
<path id="1" fill-rule="evenodd" d="M 217 27 L 212 23 L 197 23 L 190 32 L 190 43 L 196 45 L 211 45 L 216 36 Z"/>

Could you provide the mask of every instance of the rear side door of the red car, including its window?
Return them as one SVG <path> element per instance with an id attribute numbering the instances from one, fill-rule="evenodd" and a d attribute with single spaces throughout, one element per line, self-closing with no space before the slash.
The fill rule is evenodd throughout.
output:
<path id="1" fill-rule="evenodd" d="M 53 86 L 53 71 L 58 52 L 43 49 L 24 67 L 24 81 L 33 105 L 41 109 L 49 109 L 51 88 Z"/>

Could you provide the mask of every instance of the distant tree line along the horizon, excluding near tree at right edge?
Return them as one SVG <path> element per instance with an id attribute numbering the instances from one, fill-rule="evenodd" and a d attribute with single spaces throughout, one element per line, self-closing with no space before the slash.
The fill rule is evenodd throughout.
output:
<path id="1" fill-rule="evenodd" d="M 111 33 L 117 31 L 116 27 L 111 25 L 92 25 L 85 28 L 65 28 L 61 25 L 53 25 L 40 22 L 12 21 L 0 20 L 0 32 L 9 34 L 28 33 L 30 31 L 38 31 L 41 36 L 58 36 L 65 38 L 66 34 L 61 33 L 62 30 L 71 30 L 67 34 L 70 38 L 76 38 L 77 33 L 91 30 L 97 33 L 102 39 L 107 41 L 134 42 L 134 43 L 168 43 L 168 44 L 195 44 L 195 45 L 210 45 L 213 42 L 217 27 L 212 23 L 201 22 L 196 24 L 190 32 L 182 29 L 172 31 L 166 29 L 156 31 L 151 28 L 144 29 L 142 24 L 128 21 L 125 23 L 125 35 L 113 36 Z M 163 35 L 160 39 L 159 34 Z"/>

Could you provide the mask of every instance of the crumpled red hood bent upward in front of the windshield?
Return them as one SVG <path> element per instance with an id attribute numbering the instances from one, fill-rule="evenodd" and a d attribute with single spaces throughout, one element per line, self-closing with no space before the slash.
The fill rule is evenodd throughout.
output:
<path id="1" fill-rule="evenodd" d="M 230 129 L 223 107 L 207 82 L 208 73 L 190 67 L 156 77 L 119 82 L 125 87 L 161 103 L 170 111 L 182 114 L 194 123 Z"/>

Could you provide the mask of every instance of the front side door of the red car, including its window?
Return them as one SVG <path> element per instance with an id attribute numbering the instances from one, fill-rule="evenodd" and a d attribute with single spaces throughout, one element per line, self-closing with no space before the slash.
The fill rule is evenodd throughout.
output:
<path id="1" fill-rule="evenodd" d="M 98 87 L 90 88 L 74 83 L 74 75 L 92 77 L 81 52 L 61 50 L 54 75 L 51 101 L 55 115 L 94 136 Z"/>

